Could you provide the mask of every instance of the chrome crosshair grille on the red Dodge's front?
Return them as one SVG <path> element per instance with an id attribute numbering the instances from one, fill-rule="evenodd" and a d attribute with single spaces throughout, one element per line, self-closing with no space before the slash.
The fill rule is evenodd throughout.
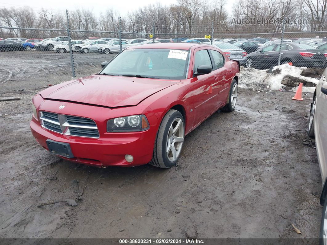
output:
<path id="1" fill-rule="evenodd" d="M 41 125 L 51 131 L 65 135 L 99 138 L 95 121 L 85 117 L 40 112 Z"/>

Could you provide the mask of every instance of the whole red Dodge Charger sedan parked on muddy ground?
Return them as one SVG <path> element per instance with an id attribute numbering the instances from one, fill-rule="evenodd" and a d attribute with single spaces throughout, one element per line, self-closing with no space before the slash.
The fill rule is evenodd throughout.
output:
<path id="1" fill-rule="evenodd" d="M 91 166 L 169 168 L 186 134 L 236 105 L 239 64 L 211 45 L 139 45 L 101 65 L 34 96 L 30 128 L 44 149 Z"/>

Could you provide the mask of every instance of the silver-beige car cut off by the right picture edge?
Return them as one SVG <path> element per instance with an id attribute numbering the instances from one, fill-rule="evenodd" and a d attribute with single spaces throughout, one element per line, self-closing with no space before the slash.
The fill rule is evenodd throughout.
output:
<path id="1" fill-rule="evenodd" d="M 322 179 L 320 204 L 323 205 L 320 238 L 327 244 L 327 68 L 319 80 L 311 104 L 308 135 L 315 137 L 318 163 Z M 321 244 L 321 243 L 320 243 Z"/>

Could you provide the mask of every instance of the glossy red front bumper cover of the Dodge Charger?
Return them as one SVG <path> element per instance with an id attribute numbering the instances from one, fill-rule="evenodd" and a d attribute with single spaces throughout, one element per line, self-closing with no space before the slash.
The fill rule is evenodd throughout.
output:
<path id="1" fill-rule="evenodd" d="M 59 108 L 61 104 L 66 105 L 65 109 L 71 108 L 71 110 L 59 112 L 59 109 L 54 109 Z M 92 115 L 94 115 L 93 119 L 97 124 L 100 134 L 100 137 L 97 139 L 63 135 L 54 131 L 49 131 L 43 128 L 34 116 L 32 117 L 30 122 L 31 132 L 44 149 L 48 150 L 46 144 L 47 139 L 70 144 L 74 158 L 59 156 L 63 159 L 91 166 L 106 167 L 138 166 L 148 163 L 152 158 L 153 145 L 159 122 L 155 114 L 148 107 L 136 106 L 109 109 L 44 100 L 39 106 L 38 111 L 39 110 L 82 117 L 90 117 L 91 112 Z M 115 118 L 117 115 L 122 116 L 123 114 L 145 114 L 149 121 L 150 129 L 142 132 L 107 133 L 105 128 L 108 119 Z M 134 159 L 131 163 L 125 160 L 126 154 L 133 156 Z"/>

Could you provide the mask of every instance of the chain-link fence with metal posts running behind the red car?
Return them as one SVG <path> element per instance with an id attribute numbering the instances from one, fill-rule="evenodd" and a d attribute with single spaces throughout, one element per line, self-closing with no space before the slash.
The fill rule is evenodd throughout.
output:
<path id="1" fill-rule="evenodd" d="M 165 33 L 153 23 L 152 33 L 0 27 L 0 83 L 38 82 L 40 87 L 84 77 L 101 70 L 122 50 L 140 44 L 195 43 L 214 45 L 230 59 L 255 69 L 290 63 L 297 67 L 327 66 L 327 32 L 215 33 L 214 23 L 193 25 L 197 33 Z M 259 29 L 258 29 L 259 30 Z M 284 30 L 284 28 L 282 28 Z M 18 36 L 18 37 L 17 37 Z M 23 85 L 22 85 L 23 84 Z"/>

